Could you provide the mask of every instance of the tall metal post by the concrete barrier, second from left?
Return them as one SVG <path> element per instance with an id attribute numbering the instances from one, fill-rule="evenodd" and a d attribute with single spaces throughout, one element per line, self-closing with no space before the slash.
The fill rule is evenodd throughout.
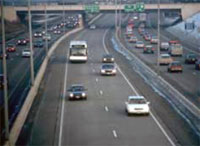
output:
<path id="1" fill-rule="evenodd" d="M 29 23 L 29 39 L 30 39 L 30 70 L 31 70 L 31 85 L 34 85 L 34 62 L 33 62 L 33 39 L 32 39 L 32 20 L 31 20 L 31 0 L 28 0 L 28 23 Z"/>

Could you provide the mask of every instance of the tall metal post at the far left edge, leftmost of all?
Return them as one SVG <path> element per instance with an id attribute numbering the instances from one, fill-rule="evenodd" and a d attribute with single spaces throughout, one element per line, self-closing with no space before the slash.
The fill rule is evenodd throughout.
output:
<path id="1" fill-rule="evenodd" d="M 8 81 L 5 48 L 5 22 L 4 22 L 4 1 L 1 0 L 1 24 L 2 24 L 2 49 L 3 49 L 3 91 L 4 91 L 4 118 L 5 118 L 5 139 L 9 142 L 9 118 L 8 118 Z"/>

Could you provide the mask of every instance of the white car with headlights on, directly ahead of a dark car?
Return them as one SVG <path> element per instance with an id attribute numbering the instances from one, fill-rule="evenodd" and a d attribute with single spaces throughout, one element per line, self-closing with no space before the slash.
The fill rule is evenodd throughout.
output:
<path id="1" fill-rule="evenodd" d="M 101 75 L 116 75 L 117 69 L 114 64 L 103 64 L 101 66 Z"/>

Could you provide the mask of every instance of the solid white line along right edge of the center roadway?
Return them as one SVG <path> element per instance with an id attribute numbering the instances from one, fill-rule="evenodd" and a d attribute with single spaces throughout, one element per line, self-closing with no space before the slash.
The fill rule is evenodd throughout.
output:
<path id="1" fill-rule="evenodd" d="M 104 50 L 106 53 L 108 52 L 108 49 L 105 45 L 105 36 L 108 33 L 109 29 L 107 29 L 107 31 L 105 31 L 104 36 L 103 36 L 103 46 L 104 46 Z M 119 40 L 118 40 L 119 41 Z M 117 63 L 116 63 L 117 65 Z M 128 80 L 128 78 L 125 76 L 125 74 L 121 71 L 120 67 L 117 65 L 119 72 L 121 73 L 121 75 L 123 76 L 123 78 L 126 80 L 126 82 L 128 83 L 128 85 L 131 87 L 131 89 L 133 90 L 133 92 L 135 92 L 136 95 L 139 95 L 139 93 L 137 92 L 137 90 L 133 87 L 133 85 L 130 83 L 130 81 Z M 173 140 L 170 138 L 170 136 L 167 134 L 167 132 L 165 131 L 165 129 L 162 127 L 162 125 L 159 123 L 159 121 L 156 119 L 156 117 L 154 116 L 154 114 L 152 112 L 150 112 L 150 115 L 152 116 L 153 120 L 155 121 L 155 123 L 158 125 L 158 127 L 160 128 L 160 130 L 162 131 L 162 133 L 165 135 L 165 137 L 167 138 L 167 140 L 170 142 L 170 144 L 172 146 L 176 146 L 175 143 L 173 142 Z"/>

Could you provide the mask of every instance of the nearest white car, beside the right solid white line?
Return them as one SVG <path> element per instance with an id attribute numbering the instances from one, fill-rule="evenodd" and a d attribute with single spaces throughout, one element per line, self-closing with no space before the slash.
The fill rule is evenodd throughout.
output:
<path id="1" fill-rule="evenodd" d="M 147 114 L 150 113 L 149 104 L 143 96 L 129 96 L 126 104 L 126 112 L 131 114 Z"/>

